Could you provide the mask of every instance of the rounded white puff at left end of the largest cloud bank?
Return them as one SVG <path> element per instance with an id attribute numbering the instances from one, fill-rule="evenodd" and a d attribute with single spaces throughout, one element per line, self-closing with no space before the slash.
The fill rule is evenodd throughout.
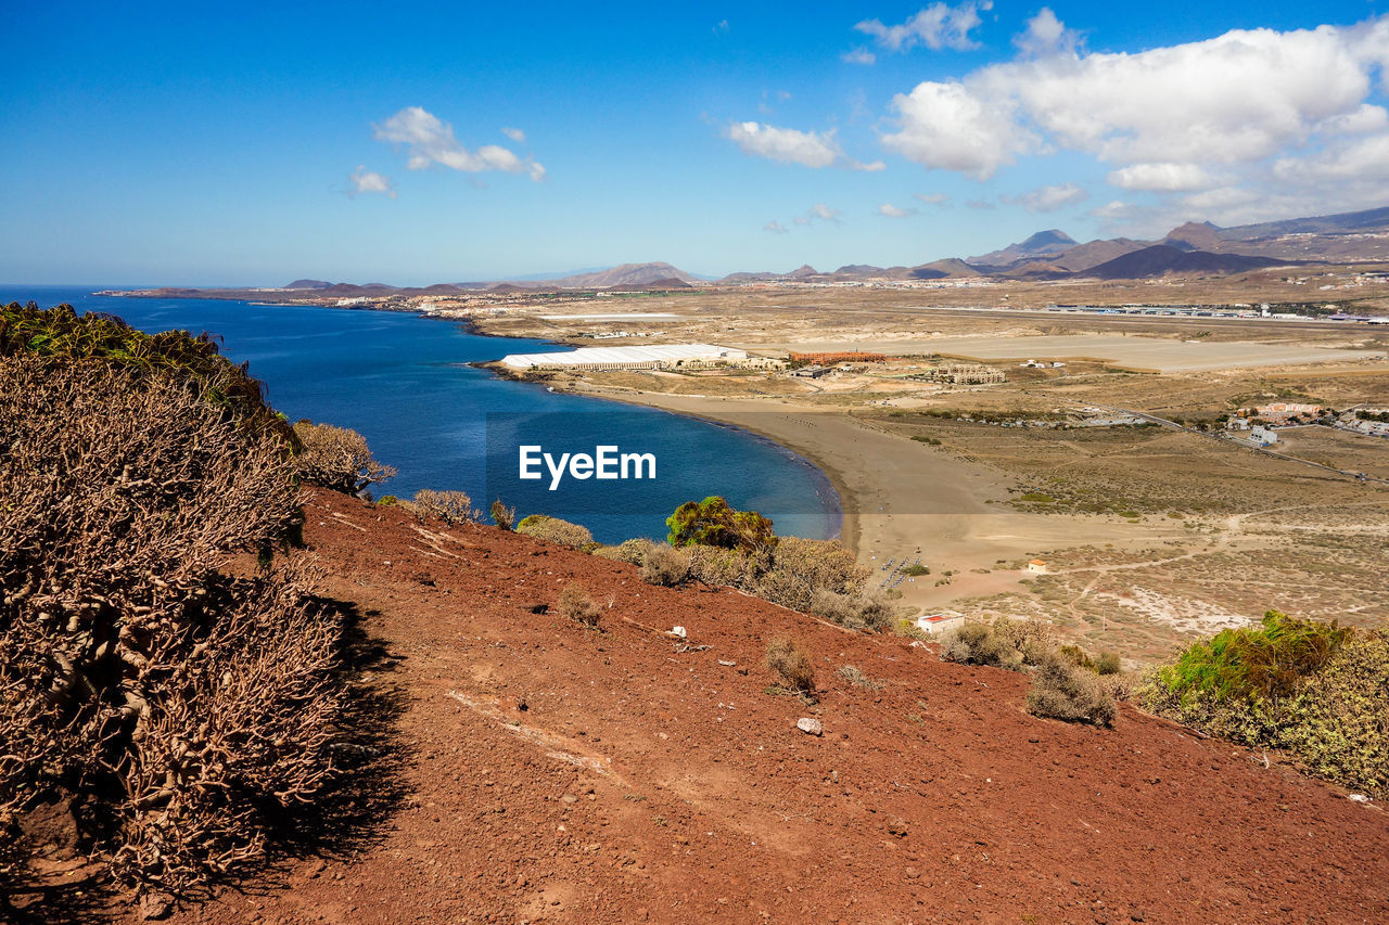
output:
<path id="1" fill-rule="evenodd" d="M 895 96 L 892 108 L 899 131 L 883 135 L 882 143 L 929 168 L 988 179 L 1038 147 L 1013 117 L 1011 101 L 986 100 L 963 83 L 918 83 L 910 94 Z"/>

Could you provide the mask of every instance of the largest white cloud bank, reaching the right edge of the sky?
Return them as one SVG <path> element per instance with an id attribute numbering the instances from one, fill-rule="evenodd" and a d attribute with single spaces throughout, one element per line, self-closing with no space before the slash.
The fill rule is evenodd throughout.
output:
<path id="1" fill-rule="evenodd" d="M 978 179 L 1024 156 L 1089 154 L 1111 185 L 1163 199 L 1153 221 L 1233 224 L 1385 197 L 1389 111 L 1375 94 L 1389 90 L 1389 15 L 1092 53 L 1043 10 L 1015 44 L 1017 60 L 896 96 L 883 144 Z"/>

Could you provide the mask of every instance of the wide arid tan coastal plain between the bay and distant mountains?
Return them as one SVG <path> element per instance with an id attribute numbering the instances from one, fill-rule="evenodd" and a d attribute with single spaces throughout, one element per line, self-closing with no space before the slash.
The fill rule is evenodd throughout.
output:
<path id="1" fill-rule="evenodd" d="M 1311 283 L 1328 294 L 1324 286 L 1345 278 Z M 1358 304 L 1389 304 L 1389 286 L 1379 289 L 1358 288 Z M 576 346 L 888 354 L 818 378 L 538 375 L 556 389 L 735 424 L 813 460 L 842 494 L 845 542 L 911 615 L 1035 615 L 1149 662 L 1270 608 L 1360 625 L 1389 618 L 1389 440 L 1317 425 L 1281 429 L 1275 446 L 1257 450 L 1226 439 L 1220 422 L 1271 401 L 1389 404 L 1389 331 L 1054 306 L 1257 311 L 1307 290 L 1276 272 L 1089 286 L 767 286 L 604 299 L 604 317 L 592 300 L 550 299 L 474 321 L 488 333 Z M 990 364 L 1006 381 L 921 375 L 951 358 Z M 1028 360 L 1047 365 L 1022 367 Z M 896 567 L 918 557 L 929 575 L 899 579 Z M 1026 569 L 1033 558 L 1046 562 L 1040 574 Z"/>

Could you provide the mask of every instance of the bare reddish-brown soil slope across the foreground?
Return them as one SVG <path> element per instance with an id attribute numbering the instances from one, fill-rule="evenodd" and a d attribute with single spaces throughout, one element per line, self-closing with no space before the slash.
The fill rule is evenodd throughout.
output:
<path id="1" fill-rule="evenodd" d="M 493 528 L 307 512 L 400 704 L 401 794 L 172 921 L 1389 919 L 1385 814 L 1276 757 L 1128 706 L 1107 731 L 1039 719 L 1021 675 Z M 554 612 L 571 582 L 600 631 Z M 817 706 L 767 693 L 776 635 L 814 653 Z"/>

